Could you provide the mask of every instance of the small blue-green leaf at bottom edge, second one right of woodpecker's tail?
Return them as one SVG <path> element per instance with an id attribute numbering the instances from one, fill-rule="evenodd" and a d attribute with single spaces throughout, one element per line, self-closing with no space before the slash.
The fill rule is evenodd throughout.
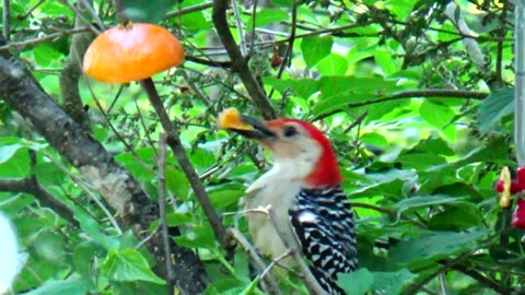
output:
<path id="1" fill-rule="evenodd" d="M 417 275 L 407 269 L 395 272 L 374 272 L 374 284 L 372 288 L 381 294 L 401 294 L 404 286 L 412 283 Z"/>

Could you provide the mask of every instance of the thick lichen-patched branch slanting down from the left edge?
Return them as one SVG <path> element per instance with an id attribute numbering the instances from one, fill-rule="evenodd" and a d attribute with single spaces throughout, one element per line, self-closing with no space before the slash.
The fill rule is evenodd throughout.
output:
<path id="1" fill-rule="evenodd" d="M 137 234 L 148 233 L 159 219 L 159 206 L 140 188 L 140 184 L 95 141 L 86 129 L 69 117 L 19 66 L 0 58 L 0 93 L 14 109 L 30 120 L 65 158 L 69 161 L 118 213 L 122 224 Z M 207 278 L 197 256 L 171 240 L 173 268 L 183 293 L 205 290 Z M 155 235 L 148 247 L 158 261 L 164 258 L 162 235 Z M 159 263 L 160 264 L 160 263 Z M 158 264 L 158 266 L 159 266 Z M 167 278 L 165 268 L 156 271 Z"/>

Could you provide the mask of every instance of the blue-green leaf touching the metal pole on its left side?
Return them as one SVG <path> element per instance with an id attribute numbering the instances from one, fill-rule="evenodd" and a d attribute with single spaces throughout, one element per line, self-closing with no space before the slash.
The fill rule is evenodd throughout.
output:
<path id="1" fill-rule="evenodd" d="M 487 133 L 493 130 L 501 118 L 514 113 L 514 88 L 500 88 L 491 92 L 479 105 L 479 130 Z"/>

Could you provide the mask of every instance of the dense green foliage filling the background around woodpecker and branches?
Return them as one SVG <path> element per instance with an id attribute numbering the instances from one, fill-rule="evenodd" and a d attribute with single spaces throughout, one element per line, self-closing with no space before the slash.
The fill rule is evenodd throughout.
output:
<path id="1" fill-rule="evenodd" d="M 2 62 L 28 69 L 143 192 L 167 200 L 173 240 L 203 267 L 201 291 L 261 293 L 247 253 L 215 238 L 196 182 L 171 151 L 161 156 L 163 128 L 140 84 L 75 80 L 94 32 L 117 23 L 114 5 L 3 3 Z M 217 130 L 218 113 L 301 118 L 332 141 L 358 214 L 361 270 L 341 280 L 349 293 L 525 292 L 523 232 L 510 226 L 512 209 L 500 209 L 493 190 L 501 167 L 515 166 L 511 2 L 238 1 L 225 28 L 213 17 L 222 0 L 121 4 L 124 15 L 168 27 L 185 47 L 186 62 L 153 81 L 225 227 L 246 232 L 228 213 L 270 161 Z M 224 30 L 245 58 L 224 49 Z M 27 255 L 13 293 L 166 293 L 173 278 L 151 270 L 163 262 L 143 247 L 145 229 L 156 233 L 159 223 L 133 235 L 133 223 L 8 97 L 0 91 L 0 210 Z M 185 275 L 175 273 L 191 280 Z M 280 276 L 283 293 L 305 293 L 293 273 Z"/>

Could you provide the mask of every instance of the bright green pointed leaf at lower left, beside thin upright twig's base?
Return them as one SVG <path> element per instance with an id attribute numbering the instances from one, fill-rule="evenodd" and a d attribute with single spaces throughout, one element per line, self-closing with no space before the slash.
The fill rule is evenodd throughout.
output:
<path id="1" fill-rule="evenodd" d="M 145 281 L 155 284 L 165 284 L 148 266 L 145 258 L 135 249 L 113 250 L 106 261 L 102 263 L 101 271 L 117 282 Z"/>

